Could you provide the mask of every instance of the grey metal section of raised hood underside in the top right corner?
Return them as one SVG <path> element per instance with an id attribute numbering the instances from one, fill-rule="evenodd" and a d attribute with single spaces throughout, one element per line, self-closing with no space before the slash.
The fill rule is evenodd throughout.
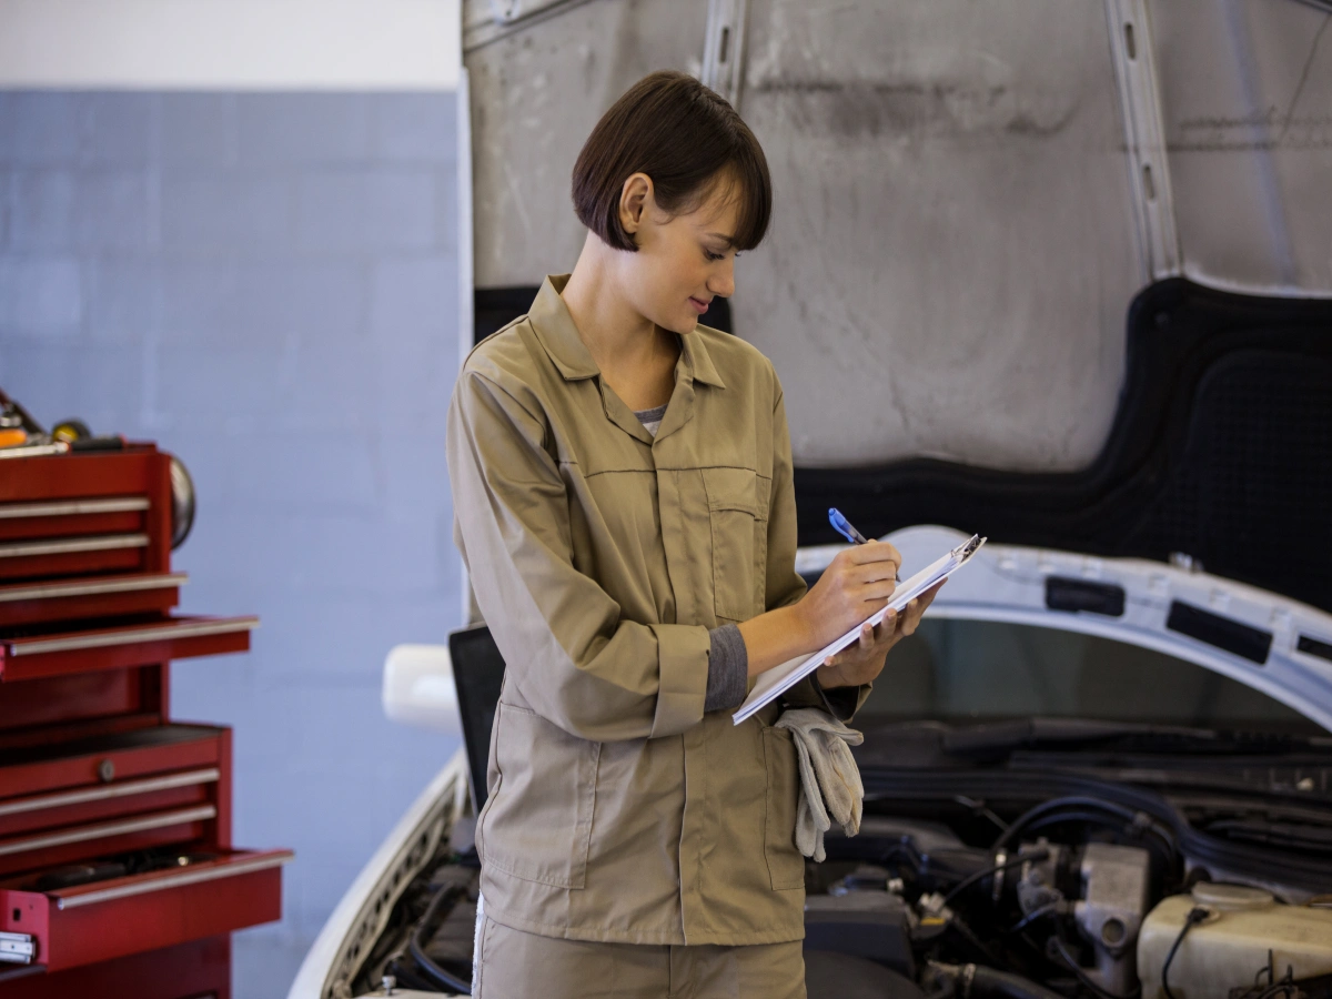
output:
<path id="1" fill-rule="evenodd" d="M 1184 272 L 1332 294 L 1332 9 L 1151 4 Z"/>

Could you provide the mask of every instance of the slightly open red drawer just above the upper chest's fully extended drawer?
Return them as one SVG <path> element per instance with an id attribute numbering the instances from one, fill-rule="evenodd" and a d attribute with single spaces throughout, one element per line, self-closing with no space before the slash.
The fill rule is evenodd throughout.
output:
<path id="1" fill-rule="evenodd" d="M 4 629 L 125 614 L 165 614 L 180 602 L 185 573 L 101 575 L 0 585 Z"/>

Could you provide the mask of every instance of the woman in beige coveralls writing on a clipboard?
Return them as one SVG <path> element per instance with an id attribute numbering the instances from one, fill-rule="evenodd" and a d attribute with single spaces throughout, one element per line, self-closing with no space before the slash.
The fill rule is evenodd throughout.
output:
<path id="1" fill-rule="evenodd" d="M 842 551 L 806 593 L 777 374 L 698 325 L 771 208 L 734 109 L 646 77 L 573 196 L 573 273 L 472 352 L 449 410 L 454 537 L 506 663 L 476 994 L 803 996 L 795 749 L 779 705 L 731 713 L 882 607 L 900 555 Z M 927 603 L 785 703 L 848 718 Z"/>

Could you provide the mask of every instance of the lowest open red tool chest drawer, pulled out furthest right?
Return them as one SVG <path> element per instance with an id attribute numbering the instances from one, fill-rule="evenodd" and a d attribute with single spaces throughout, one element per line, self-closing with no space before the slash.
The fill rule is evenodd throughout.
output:
<path id="1" fill-rule="evenodd" d="M 69 888 L 0 882 L 0 934 L 25 938 L 29 963 L 53 972 L 281 918 L 289 850 L 218 850 L 182 863 Z M 3 966 L 0 966 L 3 967 Z"/>

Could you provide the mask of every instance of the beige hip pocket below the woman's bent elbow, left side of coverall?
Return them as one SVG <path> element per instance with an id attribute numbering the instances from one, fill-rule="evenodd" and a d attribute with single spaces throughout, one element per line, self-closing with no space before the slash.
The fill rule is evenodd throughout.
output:
<path id="1" fill-rule="evenodd" d="M 502 701 L 492 743 L 498 782 L 477 822 L 482 860 L 525 880 L 583 887 L 601 743 Z"/>

